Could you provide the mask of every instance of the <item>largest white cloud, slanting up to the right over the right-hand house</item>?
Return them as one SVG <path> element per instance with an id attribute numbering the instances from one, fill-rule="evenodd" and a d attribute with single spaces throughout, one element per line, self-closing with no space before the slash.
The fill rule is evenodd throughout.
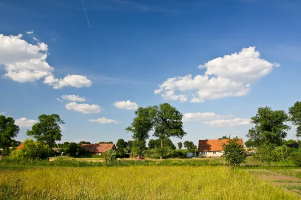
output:
<path id="1" fill-rule="evenodd" d="M 254 47 L 243 48 L 238 53 L 224 55 L 200 65 L 205 74 L 168 78 L 154 92 L 168 100 L 204 102 L 229 96 L 244 96 L 250 86 L 272 71 L 279 63 L 260 58 Z M 177 93 L 176 93 L 177 92 Z"/>

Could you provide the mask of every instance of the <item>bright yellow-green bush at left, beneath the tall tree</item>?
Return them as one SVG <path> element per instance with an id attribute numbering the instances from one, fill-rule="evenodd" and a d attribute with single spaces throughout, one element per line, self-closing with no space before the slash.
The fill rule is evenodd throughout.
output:
<path id="1" fill-rule="evenodd" d="M 26 139 L 22 148 L 12 151 L 10 156 L 14 159 L 45 159 L 49 157 L 50 151 L 51 149 L 47 144 Z"/>

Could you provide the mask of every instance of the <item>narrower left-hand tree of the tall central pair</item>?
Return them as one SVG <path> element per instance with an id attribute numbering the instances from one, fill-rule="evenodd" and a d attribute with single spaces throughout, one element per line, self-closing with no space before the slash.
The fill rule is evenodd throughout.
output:
<path id="1" fill-rule="evenodd" d="M 145 140 L 149 138 L 149 131 L 153 129 L 154 109 L 152 106 L 138 107 L 135 115 L 131 126 L 126 127 L 125 130 L 132 133 L 132 138 L 135 139 L 133 150 L 138 153 L 140 158 L 145 149 Z"/>

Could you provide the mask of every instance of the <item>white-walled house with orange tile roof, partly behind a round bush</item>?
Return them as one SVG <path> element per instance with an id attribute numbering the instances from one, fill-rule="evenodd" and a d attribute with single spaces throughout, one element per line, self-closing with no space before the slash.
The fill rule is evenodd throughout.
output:
<path id="1" fill-rule="evenodd" d="M 228 139 L 204 139 L 199 140 L 199 156 L 202 157 L 221 157 L 223 155 L 223 143 Z M 243 140 L 238 139 L 238 143 L 243 145 Z"/>

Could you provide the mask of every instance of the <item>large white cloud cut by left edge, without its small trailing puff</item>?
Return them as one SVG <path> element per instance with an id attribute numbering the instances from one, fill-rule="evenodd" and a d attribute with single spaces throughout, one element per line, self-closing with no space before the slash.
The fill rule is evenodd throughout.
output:
<path id="1" fill-rule="evenodd" d="M 7 71 L 3 76 L 18 82 L 33 82 L 51 74 L 54 68 L 45 61 L 47 44 L 30 44 L 22 36 L 0 34 L 0 64 Z"/>

